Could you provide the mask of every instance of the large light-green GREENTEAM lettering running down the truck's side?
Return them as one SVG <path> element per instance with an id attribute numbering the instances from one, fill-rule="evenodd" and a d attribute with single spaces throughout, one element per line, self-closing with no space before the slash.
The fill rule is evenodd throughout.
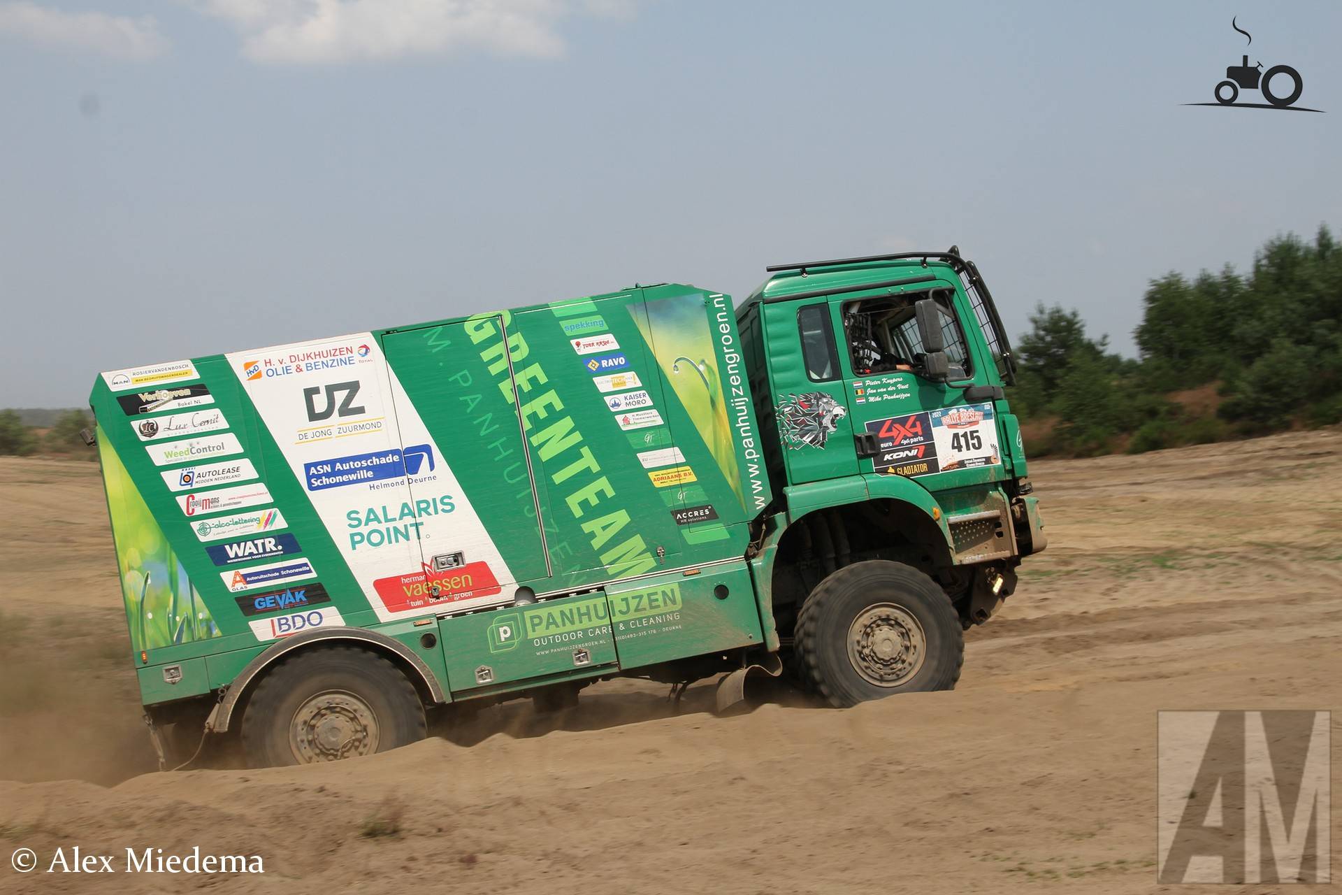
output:
<path id="1" fill-rule="evenodd" d="M 556 314 L 570 315 L 590 310 L 595 306 L 584 307 L 578 303 L 556 309 Z M 656 568 L 656 560 L 643 535 L 625 533 L 632 518 L 628 510 L 617 505 L 615 486 L 608 476 L 601 475 L 601 463 L 584 443 L 573 417 L 561 415 L 564 400 L 560 393 L 553 388 L 542 389 L 550 377 L 538 361 L 522 366 L 522 361 L 531 353 L 526 338 L 522 333 L 510 333 L 505 346 L 495 318 L 502 318 L 507 327 L 513 315 L 509 311 L 476 314 L 466 322 L 466 334 L 474 345 L 480 346 L 480 360 L 488 366 L 490 374 L 498 378 L 499 390 L 509 404 L 514 401 L 515 385 L 517 397 L 522 401 L 522 425 L 546 470 L 554 470 L 550 482 L 560 487 L 564 506 L 573 518 L 584 519 L 582 531 L 611 574 L 624 577 L 651 572 Z M 510 365 L 511 382 L 507 376 Z"/>

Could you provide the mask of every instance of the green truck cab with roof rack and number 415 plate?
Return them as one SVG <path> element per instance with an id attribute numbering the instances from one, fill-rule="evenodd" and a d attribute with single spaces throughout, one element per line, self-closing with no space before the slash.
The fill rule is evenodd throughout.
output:
<path id="1" fill-rule="evenodd" d="M 913 566 L 981 624 L 1047 539 L 1005 399 L 1011 345 L 973 262 L 949 252 L 768 268 L 738 310 L 768 471 L 778 637 L 820 581 Z"/>

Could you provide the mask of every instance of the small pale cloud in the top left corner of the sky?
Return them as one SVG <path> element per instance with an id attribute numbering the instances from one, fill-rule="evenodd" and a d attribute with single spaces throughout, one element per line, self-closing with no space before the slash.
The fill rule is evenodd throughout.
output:
<path id="1" fill-rule="evenodd" d="M 152 16 L 132 19 L 102 12 L 64 12 L 27 0 L 0 3 L 0 35 L 132 62 L 153 59 L 168 50 L 168 39 Z"/>

